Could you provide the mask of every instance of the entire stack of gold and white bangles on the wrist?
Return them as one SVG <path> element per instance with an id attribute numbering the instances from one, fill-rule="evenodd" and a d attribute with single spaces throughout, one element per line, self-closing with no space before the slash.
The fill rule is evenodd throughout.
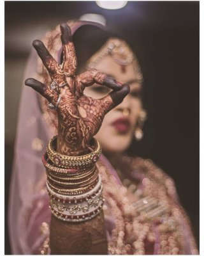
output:
<path id="1" fill-rule="evenodd" d="M 96 168 L 101 146 L 93 138 L 91 152 L 75 157 L 57 153 L 56 142 L 57 136 L 49 141 L 42 157 L 52 214 L 69 222 L 90 220 L 100 212 L 104 201 Z"/>

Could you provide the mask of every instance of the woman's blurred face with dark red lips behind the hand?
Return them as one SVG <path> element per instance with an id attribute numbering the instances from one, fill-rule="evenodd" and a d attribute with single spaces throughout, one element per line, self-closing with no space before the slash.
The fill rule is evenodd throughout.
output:
<path id="1" fill-rule="evenodd" d="M 103 58 L 94 68 L 112 76 L 116 81 L 128 83 L 131 91 L 119 106 L 105 115 L 103 124 L 96 134 L 105 154 L 123 152 L 129 147 L 135 131 L 138 115 L 142 110 L 140 100 L 141 84 L 136 80 L 133 64 L 120 66 L 110 56 Z M 110 93 L 105 86 L 94 84 L 85 88 L 85 95 L 99 99 Z"/>

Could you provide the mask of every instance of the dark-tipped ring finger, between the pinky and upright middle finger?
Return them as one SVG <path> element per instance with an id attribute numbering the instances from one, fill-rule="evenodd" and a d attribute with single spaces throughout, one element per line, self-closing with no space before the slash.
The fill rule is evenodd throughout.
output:
<path id="1" fill-rule="evenodd" d="M 43 61 L 43 64 L 47 68 L 50 76 L 52 74 L 55 74 L 57 70 L 59 70 L 59 65 L 57 61 L 55 61 L 55 59 L 52 57 L 50 52 L 48 52 L 43 42 L 41 42 L 40 40 L 34 40 L 33 47 L 38 52 L 38 55 Z"/>

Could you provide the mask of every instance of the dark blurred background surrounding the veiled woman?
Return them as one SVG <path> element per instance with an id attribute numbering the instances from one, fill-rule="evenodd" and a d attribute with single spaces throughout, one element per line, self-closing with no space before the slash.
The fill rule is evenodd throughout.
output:
<path id="1" fill-rule="evenodd" d="M 13 147 L 31 44 L 57 24 L 87 13 L 102 15 L 98 19 L 136 51 L 148 120 L 143 140 L 131 150 L 152 159 L 175 180 L 199 244 L 199 1 L 128 1 L 117 10 L 101 8 L 95 1 L 4 4 L 5 254 L 10 254 L 7 210 Z"/>

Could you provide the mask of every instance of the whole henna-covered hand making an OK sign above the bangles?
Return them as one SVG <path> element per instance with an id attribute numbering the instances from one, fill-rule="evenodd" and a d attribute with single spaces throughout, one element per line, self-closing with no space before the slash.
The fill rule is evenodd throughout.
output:
<path id="1" fill-rule="evenodd" d="M 128 84 L 120 84 L 98 70 L 92 69 L 75 77 L 77 58 L 72 42 L 71 29 L 61 25 L 63 61 L 61 65 L 47 51 L 40 40 L 34 40 L 33 47 L 47 68 L 52 81 L 58 86 L 52 89 L 36 79 L 25 80 L 27 86 L 45 97 L 55 106 L 58 119 L 57 151 L 76 156 L 85 154 L 89 141 L 101 127 L 105 114 L 114 108 L 129 93 Z M 86 86 L 98 83 L 113 91 L 102 99 L 92 99 L 84 95 Z M 60 89 L 59 89 L 60 88 Z"/>

